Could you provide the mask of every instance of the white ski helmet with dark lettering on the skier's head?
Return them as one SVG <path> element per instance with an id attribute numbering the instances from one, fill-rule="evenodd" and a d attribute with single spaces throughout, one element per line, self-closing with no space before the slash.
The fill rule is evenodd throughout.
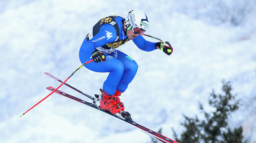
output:
<path id="1" fill-rule="evenodd" d="M 125 32 L 131 30 L 141 35 L 149 28 L 149 19 L 143 11 L 132 10 L 125 19 Z"/>

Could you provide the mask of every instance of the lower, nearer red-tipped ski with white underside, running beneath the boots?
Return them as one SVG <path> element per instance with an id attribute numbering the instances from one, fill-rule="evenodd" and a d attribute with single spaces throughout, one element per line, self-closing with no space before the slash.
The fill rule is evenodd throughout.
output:
<path id="1" fill-rule="evenodd" d="M 55 88 L 53 88 L 51 86 L 47 87 L 47 89 L 51 90 L 51 91 L 55 90 Z M 142 125 L 140 125 L 138 123 L 136 123 L 132 119 L 124 119 L 124 118 L 121 118 L 119 116 L 115 116 L 114 114 L 110 113 L 109 111 L 103 110 L 103 109 L 99 108 L 98 106 L 96 106 L 93 103 L 81 100 L 81 99 L 79 99 L 77 97 L 74 97 L 74 96 L 72 96 L 70 94 L 67 94 L 65 92 L 62 92 L 60 90 L 56 90 L 55 92 L 60 94 L 60 95 L 62 95 L 62 96 L 64 96 L 64 97 L 68 97 L 70 100 L 73 100 L 73 101 L 76 101 L 78 103 L 81 103 L 82 105 L 85 105 L 85 106 L 87 106 L 89 108 L 92 108 L 92 109 L 94 109 L 94 110 L 96 110 L 98 112 L 104 113 L 107 116 L 110 116 L 110 117 L 112 117 L 114 119 L 122 121 L 125 124 L 129 124 L 130 126 L 135 127 L 138 130 L 141 130 L 142 132 L 145 132 L 147 135 L 151 136 L 152 138 L 157 139 L 158 141 L 160 141 L 162 143 L 178 143 L 178 142 L 176 142 L 176 141 L 174 141 L 174 140 L 172 140 L 170 138 L 167 138 L 167 137 L 159 134 L 158 132 L 152 131 L 152 130 L 150 130 L 150 129 L 148 129 L 148 128 L 146 128 L 146 127 L 144 127 L 144 126 L 142 126 Z"/>

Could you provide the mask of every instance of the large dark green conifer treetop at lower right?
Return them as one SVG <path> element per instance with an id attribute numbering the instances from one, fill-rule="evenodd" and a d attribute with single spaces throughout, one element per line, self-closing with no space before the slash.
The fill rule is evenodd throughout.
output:
<path id="1" fill-rule="evenodd" d="M 233 131 L 228 127 L 228 116 L 239 108 L 239 100 L 236 95 L 231 94 L 230 82 L 222 81 L 222 91 L 225 94 L 216 94 L 214 90 L 208 100 L 209 105 L 214 107 L 214 111 L 207 113 L 203 105 L 199 103 L 200 111 L 205 119 L 199 120 L 197 116 L 189 118 L 184 116 L 185 121 L 181 124 L 185 131 L 175 140 L 180 143 L 242 143 L 242 127 L 235 128 Z"/>

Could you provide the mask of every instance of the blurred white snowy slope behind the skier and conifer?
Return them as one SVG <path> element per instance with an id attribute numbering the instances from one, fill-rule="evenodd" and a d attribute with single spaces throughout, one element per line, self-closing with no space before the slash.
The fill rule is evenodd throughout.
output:
<path id="1" fill-rule="evenodd" d="M 130 41 L 118 50 L 138 65 L 121 96 L 132 119 L 173 138 L 184 129 L 183 114 L 206 110 L 212 89 L 231 81 L 242 106 L 230 127 L 242 126 L 248 143 L 256 141 L 256 0 L 0 0 L 1 143 L 146 143 L 148 135 L 76 102 L 52 94 L 81 64 L 79 48 L 99 19 L 125 17 L 140 9 L 149 17 L 146 34 L 169 41 L 171 56 L 141 51 Z M 152 38 L 147 40 L 157 41 Z M 68 84 L 93 95 L 107 73 L 85 67 Z M 87 100 L 66 86 L 60 90 Z"/>

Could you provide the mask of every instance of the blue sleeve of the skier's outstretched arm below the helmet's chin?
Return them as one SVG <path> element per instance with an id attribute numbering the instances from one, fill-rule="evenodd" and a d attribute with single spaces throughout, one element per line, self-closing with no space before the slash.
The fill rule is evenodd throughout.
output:
<path id="1" fill-rule="evenodd" d="M 141 35 L 137 36 L 132 40 L 135 45 L 143 51 L 155 50 L 155 43 L 145 40 Z"/>

